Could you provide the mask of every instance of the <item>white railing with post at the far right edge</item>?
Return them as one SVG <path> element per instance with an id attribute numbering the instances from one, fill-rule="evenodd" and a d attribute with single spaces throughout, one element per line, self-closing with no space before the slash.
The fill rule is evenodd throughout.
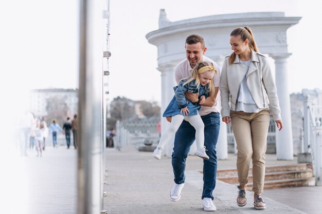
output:
<path id="1" fill-rule="evenodd" d="M 304 102 L 304 151 L 312 154 L 315 183 L 322 186 L 322 106 Z"/>

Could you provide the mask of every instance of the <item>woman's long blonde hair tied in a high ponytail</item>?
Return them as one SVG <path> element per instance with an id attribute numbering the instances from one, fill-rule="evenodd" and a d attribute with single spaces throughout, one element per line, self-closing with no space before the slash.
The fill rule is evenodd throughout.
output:
<path id="1" fill-rule="evenodd" d="M 248 38 L 248 46 L 249 48 L 251 48 L 252 50 L 254 50 L 255 52 L 258 52 L 258 48 L 257 45 L 255 43 L 255 38 L 253 35 L 253 32 L 251 30 L 251 28 L 249 27 L 239 27 L 234 29 L 231 33 L 230 36 L 238 36 L 240 35 L 241 40 L 244 42 L 246 40 L 246 38 Z M 234 63 L 236 59 L 236 53 L 232 52 L 229 56 L 229 63 L 232 64 Z"/>

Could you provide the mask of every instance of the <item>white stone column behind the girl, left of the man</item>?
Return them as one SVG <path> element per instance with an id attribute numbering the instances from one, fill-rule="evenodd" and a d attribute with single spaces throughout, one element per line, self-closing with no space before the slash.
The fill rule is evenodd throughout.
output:
<path id="1" fill-rule="evenodd" d="M 162 116 L 163 112 L 166 110 L 168 104 L 173 98 L 174 91 L 173 86 L 176 86 L 174 77 L 174 65 L 168 64 L 166 66 L 160 66 L 158 68 L 161 71 L 161 134 L 169 127 L 169 122 Z M 171 157 L 172 149 L 174 143 L 174 135 L 170 141 L 166 144 L 163 155 Z"/>

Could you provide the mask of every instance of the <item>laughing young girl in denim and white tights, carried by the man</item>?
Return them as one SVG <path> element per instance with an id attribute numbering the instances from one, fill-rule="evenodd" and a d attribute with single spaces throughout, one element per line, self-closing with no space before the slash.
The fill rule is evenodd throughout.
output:
<path id="1" fill-rule="evenodd" d="M 171 136 L 178 130 L 183 120 L 188 121 L 195 128 L 195 139 L 197 150 L 195 155 L 204 160 L 209 157 L 206 154 L 204 146 L 204 123 L 199 115 L 198 110 L 201 108 L 208 95 L 214 93 L 213 75 L 217 74 L 216 69 L 211 63 L 201 62 L 196 65 L 189 78 L 181 80 L 178 86 L 173 89 L 175 95 L 165 110 L 163 116 L 172 116 L 170 127 L 162 135 L 159 144 L 153 152 L 154 158 L 160 160 L 161 154 L 166 143 L 170 140 Z M 185 92 L 199 93 L 199 101 L 192 103 L 185 98 Z"/>

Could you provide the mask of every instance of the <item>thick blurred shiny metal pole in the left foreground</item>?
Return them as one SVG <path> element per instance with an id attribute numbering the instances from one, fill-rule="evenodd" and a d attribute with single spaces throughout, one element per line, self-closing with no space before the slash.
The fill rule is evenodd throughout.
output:
<path id="1" fill-rule="evenodd" d="M 80 1 L 77 213 L 97 214 L 101 192 L 102 1 Z"/>

